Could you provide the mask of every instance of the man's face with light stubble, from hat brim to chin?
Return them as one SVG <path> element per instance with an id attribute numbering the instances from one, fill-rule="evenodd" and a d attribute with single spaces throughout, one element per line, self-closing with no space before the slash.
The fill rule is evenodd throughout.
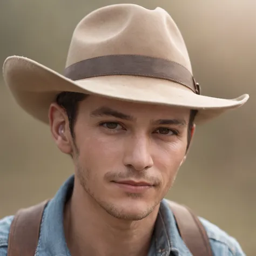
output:
<path id="1" fill-rule="evenodd" d="M 116 218 L 145 218 L 176 178 L 189 117 L 176 107 L 87 97 L 74 129 L 79 186 Z"/>

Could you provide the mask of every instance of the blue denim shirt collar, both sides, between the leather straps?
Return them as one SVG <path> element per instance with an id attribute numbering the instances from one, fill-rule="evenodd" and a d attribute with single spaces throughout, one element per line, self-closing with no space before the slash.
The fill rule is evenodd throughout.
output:
<path id="1" fill-rule="evenodd" d="M 37 248 L 39 255 L 41 251 L 47 251 L 49 255 L 71 256 L 65 240 L 63 211 L 66 199 L 72 193 L 73 184 L 74 176 L 71 176 L 45 208 Z M 174 215 L 166 199 L 163 199 L 160 203 L 149 255 L 167 256 L 171 253 L 175 256 L 192 256 L 180 237 Z"/>

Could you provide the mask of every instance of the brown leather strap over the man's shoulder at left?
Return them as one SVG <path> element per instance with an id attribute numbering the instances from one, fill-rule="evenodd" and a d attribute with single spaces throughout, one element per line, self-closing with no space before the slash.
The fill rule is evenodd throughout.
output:
<path id="1" fill-rule="evenodd" d="M 34 256 L 44 208 L 49 200 L 19 210 L 11 223 L 8 256 Z"/>

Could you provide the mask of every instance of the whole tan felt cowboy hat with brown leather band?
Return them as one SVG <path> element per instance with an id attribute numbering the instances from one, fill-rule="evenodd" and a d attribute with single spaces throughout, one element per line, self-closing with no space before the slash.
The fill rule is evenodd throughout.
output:
<path id="1" fill-rule="evenodd" d="M 117 4 L 91 12 L 73 32 L 64 75 L 31 59 L 11 56 L 3 77 L 17 103 L 48 123 L 58 93 L 82 92 L 130 102 L 198 110 L 196 123 L 243 105 L 249 96 L 200 95 L 177 25 L 163 9 Z"/>

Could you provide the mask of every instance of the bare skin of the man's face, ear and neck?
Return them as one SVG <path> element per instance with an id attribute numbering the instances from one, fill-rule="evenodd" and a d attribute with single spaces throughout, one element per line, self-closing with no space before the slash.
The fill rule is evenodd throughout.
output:
<path id="1" fill-rule="evenodd" d="M 89 96 L 79 103 L 73 139 L 65 111 L 51 104 L 52 137 L 75 166 L 64 210 L 72 255 L 147 255 L 160 201 L 186 158 L 189 116 L 188 109 Z"/>

